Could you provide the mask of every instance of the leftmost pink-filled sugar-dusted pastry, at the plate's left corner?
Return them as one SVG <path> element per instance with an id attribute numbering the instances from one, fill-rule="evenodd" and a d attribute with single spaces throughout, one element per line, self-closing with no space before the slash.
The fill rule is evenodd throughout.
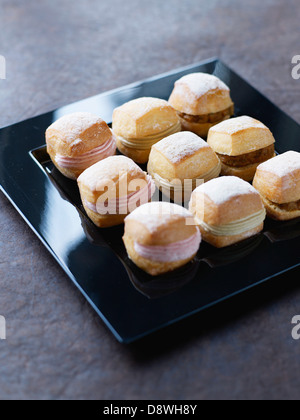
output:
<path id="1" fill-rule="evenodd" d="M 66 115 L 46 131 L 47 151 L 57 169 L 77 179 L 85 169 L 116 154 L 116 140 L 105 121 L 94 114 Z"/>

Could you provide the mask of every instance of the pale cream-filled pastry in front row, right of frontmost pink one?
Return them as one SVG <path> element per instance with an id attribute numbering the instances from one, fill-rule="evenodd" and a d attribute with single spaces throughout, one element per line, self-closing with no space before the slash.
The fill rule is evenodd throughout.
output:
<path id="1" fill-rule="evenodd" d="M 192 194 L 190 211 L 203 239 L 223 248 L 263 230 L 266 211 L 259 193 L 237 177 L 213 179 Z"/>

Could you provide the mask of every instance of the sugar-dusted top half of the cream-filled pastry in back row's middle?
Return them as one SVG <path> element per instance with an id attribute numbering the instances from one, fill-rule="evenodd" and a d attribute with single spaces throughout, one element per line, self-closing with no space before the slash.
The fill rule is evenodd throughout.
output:
<path id="1" fill-rule="evenodd" d="M 139 98 L 127 102 L 113 113 L 113 131 L 125 139 L 143 139 L 178 124 L 176 111 L 167 101 Z"/>

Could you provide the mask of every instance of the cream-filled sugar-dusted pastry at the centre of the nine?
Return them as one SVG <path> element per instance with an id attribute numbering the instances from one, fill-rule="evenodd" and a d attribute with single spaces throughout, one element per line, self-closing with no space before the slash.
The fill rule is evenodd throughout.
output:
<path id="1" fill-rule="evenodd" d="M 221 162 L 204 140 L 182 131 L 152 147 L 148 172 L 167 197 L 181 203 L 200 183 L 220 175 Z"/>

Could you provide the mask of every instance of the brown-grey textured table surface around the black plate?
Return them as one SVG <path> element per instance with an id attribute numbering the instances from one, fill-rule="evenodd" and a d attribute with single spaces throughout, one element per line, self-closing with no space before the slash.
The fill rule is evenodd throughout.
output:
<path id="1" fill-rule="evenodd" d="M 219 56 L 300 122 L 298 0 L 0 0 L 0 126 Z M 134 346 L 0 195 L 0 398 L 299 398 L 299 270 Z"/>

